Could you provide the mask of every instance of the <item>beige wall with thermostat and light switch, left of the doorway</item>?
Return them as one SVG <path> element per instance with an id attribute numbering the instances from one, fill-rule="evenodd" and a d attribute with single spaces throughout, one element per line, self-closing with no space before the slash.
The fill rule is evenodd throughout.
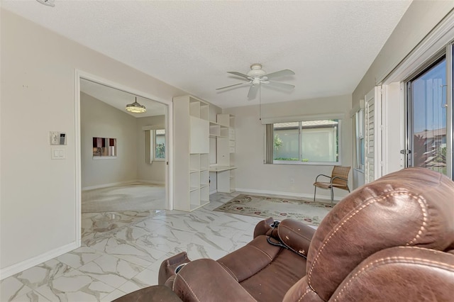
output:
<path id="1" fill-rule="evenodd" d="M 187 93 L 5 9 L 0 19 L 0 274 L 4 277 L 79 245 L 74 70 L 167 104 L 173 96 Z M 52 130 L 67 133 L 65 160 L 50 160 Z"/>

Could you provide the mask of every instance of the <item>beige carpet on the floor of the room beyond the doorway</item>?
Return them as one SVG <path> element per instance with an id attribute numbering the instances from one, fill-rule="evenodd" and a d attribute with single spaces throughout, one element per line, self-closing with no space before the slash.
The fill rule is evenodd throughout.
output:
<path id="1" fill-rule="evenodd" d="M 148 211 L 164 208 L 164 185 L 128 184 L 82 191 L 82 213 Z"/>

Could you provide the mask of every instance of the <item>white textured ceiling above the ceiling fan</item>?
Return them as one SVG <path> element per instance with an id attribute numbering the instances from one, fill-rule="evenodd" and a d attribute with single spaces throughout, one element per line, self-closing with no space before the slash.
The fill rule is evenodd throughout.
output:
<path id="1" fill-rule="evenodd" d="M 292 69 L 262 103 L 351 94 L 411 1 L 2 0 L 4 9 L 212 104 L 248 101 L 228 71 Z M 140 103 L 140 101 L 139 101 Z M 145 105 L 146 106 L 146 105 Z"/>

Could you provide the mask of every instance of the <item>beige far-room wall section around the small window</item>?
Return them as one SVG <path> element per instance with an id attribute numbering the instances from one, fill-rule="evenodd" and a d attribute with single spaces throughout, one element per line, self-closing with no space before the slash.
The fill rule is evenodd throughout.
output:
<path id="1" fill-rule="evenodd" d="M 149 116 L 136 120 L 138 135 L 137 179 L 165 184 L 165 161 L 153 160 L 151 164 L 145 163 L 145 131 L 142 130 L 142 127 L 146 125 L 165 125 L 165 116 Z M 167 143 L 166 146 L 168 146 Z"/>

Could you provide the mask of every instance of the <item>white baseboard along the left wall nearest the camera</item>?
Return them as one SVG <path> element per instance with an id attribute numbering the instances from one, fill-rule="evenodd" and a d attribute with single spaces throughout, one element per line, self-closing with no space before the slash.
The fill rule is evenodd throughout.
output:
<path id="1" fill-rule="evenodd" d="M 9 276 L 13 276 L 13 274 L 23 272 L 26 269 L 30 269 L 35 265 L 46 262 L 67 252 L 71 252 L 72 250 L 75 250 L 78 247 L 80 247 L 80 242 L 79 244 L 77 244 L 77 242 L 71 242 L 67 245 L 63 245 L 62 247 L 57 247 L 54 250 L 50 250 L 49 252 L 45 252 L 44 254 L 38 255 L 30 259 L 26 259 L 22 262 L 0 269 L 0 280 L 8 278 Z"/>

